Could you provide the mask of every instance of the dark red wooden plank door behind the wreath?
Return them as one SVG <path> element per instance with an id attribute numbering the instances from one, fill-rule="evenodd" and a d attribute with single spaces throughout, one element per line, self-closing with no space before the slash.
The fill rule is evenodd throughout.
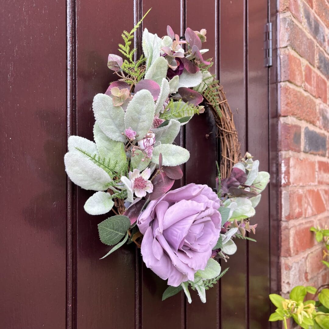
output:
<path id="1" fill-rule="evenodd" d="M 143 28 L 153 33 L 164 35 L 167 24 L 181 35 L 187 26 L 207 29 L 213 73 L 237 110 L 242 152 L 259 159 L 262 170 L 275 172 L 275 165 L 269 165 L 272 73 L 263 61 L 267 1 L 4 4 L 1 328 L 269 327 L 268 293 L 275 289 L 277 259 L 270 251 L 276 232 L 270 229 L 275 211 L 268 190 L 254 218 L 259 223 L 257 244 L 238 241 L 238 253 L 227 264 L 230 270 L 207 292 L 207 303 L 193 295 L 189 305 L 183 294 L 161 301 L 166 284 L 143 265 L 134 246 L 99 260 L 108 247 L 99 241 L 97 224 L 106 216 L 86 214 L 83 205 L 90 192 L 66 179 L 67 137 L 92 139 L 93 96 L 114 79 L 107 55 L 116 53 L 121 32 L 130 30 L 150 7 Z M 139 31 L 138 45 L 140 36 Z M 178 142 L 191 152 L 181 184 L 214 187 L 218 154 L 211 115 L 193 118 Z"/>

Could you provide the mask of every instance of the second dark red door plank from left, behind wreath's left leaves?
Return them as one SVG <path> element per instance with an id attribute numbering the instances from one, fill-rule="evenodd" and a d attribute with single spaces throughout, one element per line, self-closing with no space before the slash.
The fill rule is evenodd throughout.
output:
<path id="1" fill-rule="evenodd" d="M 77 135 L 92 139 L 92 100 L 116 80 L 107 67 L 107 57 L 118 54 L 120 34 L 133 27 L 133 2 L 77 1 L 76 11 Z M 77 327 L 134 328 L 134 245 L 99 260 L 109 247 L 100 242 L 97 224 L 109 215 L 91 216 L 84 211 L 92 193 L 77 189 Z"/>

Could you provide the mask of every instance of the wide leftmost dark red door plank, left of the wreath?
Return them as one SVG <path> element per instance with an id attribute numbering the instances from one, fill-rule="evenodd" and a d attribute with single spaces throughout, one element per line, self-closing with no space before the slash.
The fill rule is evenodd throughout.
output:
<path id="1" fill-rule="evenodd" d="M 1 327 L 64 329 L 65 2 L 1 16 Z"/>

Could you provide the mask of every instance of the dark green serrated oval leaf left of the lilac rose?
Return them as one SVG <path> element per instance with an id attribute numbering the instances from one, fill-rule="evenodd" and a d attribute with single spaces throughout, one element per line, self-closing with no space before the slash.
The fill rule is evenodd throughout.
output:
<path id="1" fill-rule="evenodd" d="M 127 216 L 116 215 L 98 224 L 100 240 L 107 245 L 118 243 L 129 229 L 130 220 Z"/>

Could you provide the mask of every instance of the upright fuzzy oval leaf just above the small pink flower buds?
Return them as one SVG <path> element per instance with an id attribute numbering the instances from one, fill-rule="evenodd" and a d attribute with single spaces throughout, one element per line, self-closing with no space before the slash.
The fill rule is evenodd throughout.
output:
<path id="1" fill-rule="evenodd" d="M 154 100 L 148 90 L 138 91 L 129 102 L 124 117 L 126 129 L 131 128 L 136 131 L 137 140 L 142 139 L 152 127 L 154 119 Z"/>

